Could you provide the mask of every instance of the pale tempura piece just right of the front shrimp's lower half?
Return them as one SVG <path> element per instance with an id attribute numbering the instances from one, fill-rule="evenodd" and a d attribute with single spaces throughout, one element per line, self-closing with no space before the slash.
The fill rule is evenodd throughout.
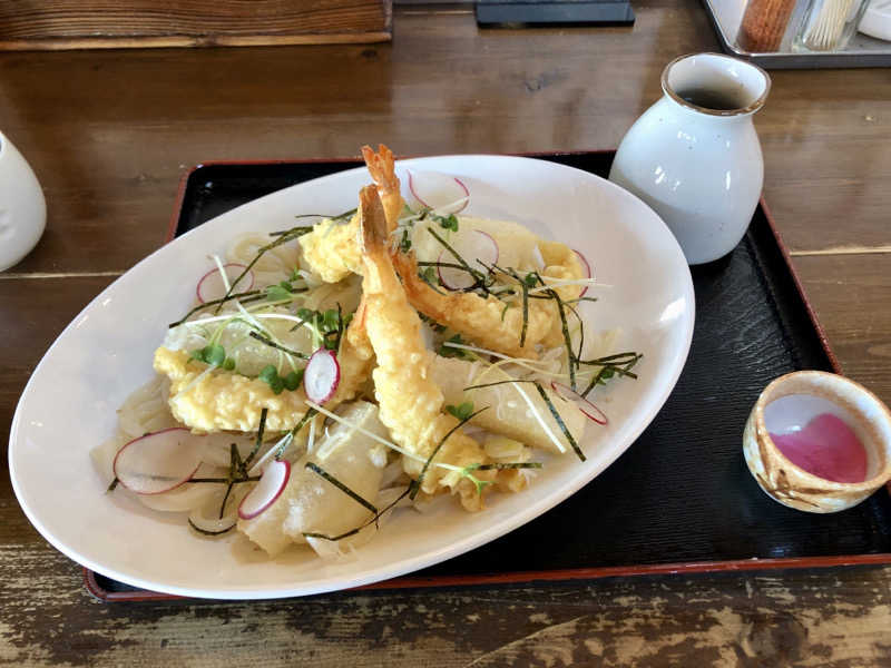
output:
<path id="1" fill-rule="evenodd" d="M 470 401 L 474 406 L 492 406 L 473 420 L 477 426 L 540 450 L 561 452 L 557 442 L 562 445 L 562 452 L 571 450 L 550 407 L 531 383 L 505 383 L 464 391 L 464 387 L 472 385 L 508 379 L 503 372 L 486 373 L 484 370 L 486 366 L 479 362 L 437 355 L 430 365 L 430 379 L 442 390 L 447 404 L 457 406 Z M 578 443 L 585 431 L 587 418 L 575 404 L 561 399 L 550 387 L 542 389 Z"/>

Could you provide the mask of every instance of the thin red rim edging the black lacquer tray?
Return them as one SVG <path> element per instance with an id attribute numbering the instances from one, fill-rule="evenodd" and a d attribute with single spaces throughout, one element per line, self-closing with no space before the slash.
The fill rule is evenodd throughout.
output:
<path id="1" fill-rule="evenodd" d="M 535 151 L 535 153 L 517 153 L 517 154 L 502 154 L 513 155 L 528 158 L 541 157 L 557 157 L 557 156 L 585 156 L 591 154 L 615 154 L 615 149 L 590 149 L 590 150 L 564 150 L 564 151 Z M 404 159 L 413 156 L 399 156 L 399 159 Z M 174 203 L 173 214 L 167 227 L 167 236 L 165 243 L 174 239 L 176 227 L 179 223 L 179 217 L 183 212 L 183 204 L 185 202 L 186 188 L 192 175 L 204 167 L 215 166 L 237 166 L 237 165 L 294 165 L 294 164 L 313 164 L 313 163 L 356 163 L 361 161 L 360 156 L 353 157 L 339 157 L 339 158 L 296 158 L 296 159 L 253 159 L 253 160 L 208 160 L 198 163 L 192 168 L 187 169 L 179 179 L 177 188 L 176 200 Z M 795 285 L 795 289 L 804 304 L 807 316 L 811 321 L 820 344 L 829 358 L 833 372 L 841 374 L 842 367 L 839 358 L 832 351 L 829 344 L 829 338 L 823 325 L 816 317 L 816 312 L 813 305 L 807 299 L 807 294 L 804 291 L 801 277 L 795 271 L 792 262 L 792 256 L 783 242 L 774 217 L 771 213 L 764 197 L 758 200 L 767 226 L 771 234 L 780 248 L 783 256 L 783 262 L 789 271 Z M 891 483 L 890 483 L 891 485 Z M 891 487 L 889 487 L 891 490 Z M 486 584 L 513 584 L 521 582 L 565 582 L 574 580 L 594 580 L 598 578 L 615 578 L 615 577 L 629 577 L 629 576 L 659 576 L 659 574 L 685 574 L 685 573 L 708 573 L 708 572 L 740 572 L 740 571 L 760 571 L 760 570 L 785 570 L 797 568 L 832 568 L 840 566 L 869 566 L 869 564 L 884 564 L 891 563 L 891 553 L 878 554 L 846 554 L 846 556 L 831 556 L 831 557 L 796 557 L 796 558 L 777 558 L 777 559 L 737 559 L 725 561 L 694 561 L 681 563 L 657 563 L 657 564 L 629 564 L 629 566 L 611 566 L 599 568 L 575 568 L 575 569 L 556 569 L 547 571 L 515 571 L 509 573 L 484 573 L 472 576 L 437 576 L 437 577 L 417 577 L 417 576 L 402 576 L 392 580 L 383 580 L 363 587 L 346 589 L 344 591 L 371 591 L 371 590 L 386 590 L 386 589 L 411 589 L 411 588 L 437 588 L 437 587 L 467 587 L 467 586 L 486 586 Z M 172 593 L 163 593 L 149 590 L 135 590 L 135 591 L 109 591 L 99 584 L 96 579 L 96 573 L 88 568 L 84 568 L 84 586 L 94 597 L 101 601 L 148 601 L 148 600 L 178 600 L 187 597 L 180 597 Z M 188 599 L 192 600 L 192 599 Z"/>

